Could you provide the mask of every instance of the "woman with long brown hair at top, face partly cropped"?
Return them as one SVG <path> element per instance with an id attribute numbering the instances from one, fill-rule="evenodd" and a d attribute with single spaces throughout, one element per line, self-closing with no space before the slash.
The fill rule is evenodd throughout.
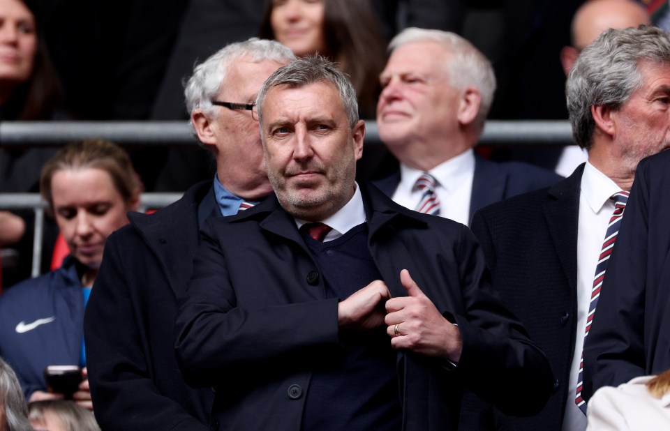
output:
<path id="1" fill-rule="evenodd" d="M 368 0 L 267 0 L 260 37 L 293 54 L 327 56 L 350 76 L 362 119 L 374 119 L 385 41 Z"/>

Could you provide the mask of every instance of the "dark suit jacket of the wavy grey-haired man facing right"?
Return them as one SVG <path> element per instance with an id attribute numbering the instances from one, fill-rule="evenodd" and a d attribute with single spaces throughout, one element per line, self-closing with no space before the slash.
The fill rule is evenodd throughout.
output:
<path id="1" fill-rule="evenodd" d="M 496 429 L 560 430 L 576 335 L 577 226 L 583 165 L 556 185 L 477 211 L 472 232 L 482 245 L 493 287 L 549 357 L 555 390 L 532 418 L 496 412 Z M 470 412 L 470 419 L 491 421 Z M 490 414 L 490 411 L 489 411 Z"/>

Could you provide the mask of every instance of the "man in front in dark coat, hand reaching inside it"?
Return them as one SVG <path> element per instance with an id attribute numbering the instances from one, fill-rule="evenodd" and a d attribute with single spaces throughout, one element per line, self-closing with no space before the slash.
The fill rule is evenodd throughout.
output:
<path id="1" fill-rule="evenodd" d="M 296 59 L 257 103 L 276 196 L 207 221 L 177 317 L 184 377 L 220 388 L 212 428 L 456 430 L 466 387 L 541 409 L 549 365 L 467 227 L 355 181 L 365 123 L 345 75 Z"/>

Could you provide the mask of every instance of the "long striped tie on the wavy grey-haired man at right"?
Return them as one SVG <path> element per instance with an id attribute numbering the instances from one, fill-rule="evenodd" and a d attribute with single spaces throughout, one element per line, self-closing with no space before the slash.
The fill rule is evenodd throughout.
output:
<path id="1" fill-rule="evenodd" d="M 605 239 L 602 243 L 602 248 L 600 249 L 600 257 L 598 257 L 598 263 L 595 266 L 595 278 L 593 279 L 593 289 L 591 289 L 591 302 L 588 304 L 588 315 L 586 316 L 586 331 L 584 331 L 584 340 L 586 340 L 586 335 L 588 335 L 588 330 L 591 328 L 591 323 L 593 322 L 593 315 L 595 314 L 595 307 L 598 305 L 598 298 L 600 298 L 600 288 L 602 287 L 602 281 L 605 278 L 605 271 L 607 269 L 607 264 L 609 263 L 609 256 L 612 253 L 614 247 L 614 242 L 616 241 L 616 236 L 619 233 L 619 226 L 621 225 L 621 219 L 623 218 L 623 211 L 626 209 L 626 202 L 628 201 L 628 192 L 616 192 L 612 197 L 614 201 L 614 213 L 609 219 L 609 225 L 607 225 L 607 231 L 605 233 Z M 579 360 L 579 375 L 577 377 L 577 393 L 574 399 L 577 406 L 584 414 L 586 414 L 586 402 L 581 398 L 581 388 L 583 386 L 583 372 L 584 372 L 584 352 L 582 347 L 581 359 Z"/>

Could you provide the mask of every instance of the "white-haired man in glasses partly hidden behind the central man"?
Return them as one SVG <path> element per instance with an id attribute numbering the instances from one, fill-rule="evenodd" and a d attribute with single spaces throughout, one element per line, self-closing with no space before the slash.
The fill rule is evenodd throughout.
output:
<path id="1" fill-rule="evenodd" d="M 214 155 L 216 177 L 155 214 L 129 214 L 130 224 L 107 240 L 84 315 L 101 428 L 207 429 L 211 388 L 189 388 L 174 356 L 177 301 L 204 220 L 235 214 L 271 192 L 254 101 L 265 79 L 293 57 L 277 42 L 250 39 L 216 52 L 188 80 L 191 125 Z"/>

